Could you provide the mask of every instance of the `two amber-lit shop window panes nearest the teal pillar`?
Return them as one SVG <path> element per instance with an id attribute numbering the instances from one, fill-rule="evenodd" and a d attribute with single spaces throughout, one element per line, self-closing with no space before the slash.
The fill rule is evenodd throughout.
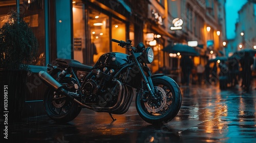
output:
<path id="1" fill-rule="evenodd" d="M 93 65 L 110 52 L 109 16 L 82 3 L 73 5 L 74 59 Z"/>

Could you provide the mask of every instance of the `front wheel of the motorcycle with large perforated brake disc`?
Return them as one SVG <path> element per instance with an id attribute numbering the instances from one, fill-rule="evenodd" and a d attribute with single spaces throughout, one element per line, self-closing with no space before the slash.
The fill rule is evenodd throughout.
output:
<path id="1" fill-rule="evenodd" d="M 144 90 L 137 92 L 136 109 L 140 117 L 147 123 L 153 125 L 163 125 L 178 114 L 182 96 L 178 84 L 167 76 L 152 77 L 155 87 L 155 97 Z"/>

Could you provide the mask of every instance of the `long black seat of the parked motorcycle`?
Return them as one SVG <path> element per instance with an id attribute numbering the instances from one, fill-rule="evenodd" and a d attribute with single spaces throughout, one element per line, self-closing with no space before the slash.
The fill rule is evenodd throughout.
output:
<path id="1" fill-rule="evenodd" d="M 75 70 L 91 70 L 93 67 L 89 65 L 84 65 L 79 61 L 72 60 L 72 59 L 56 59 L 57 65 L 72 67 Z"/>

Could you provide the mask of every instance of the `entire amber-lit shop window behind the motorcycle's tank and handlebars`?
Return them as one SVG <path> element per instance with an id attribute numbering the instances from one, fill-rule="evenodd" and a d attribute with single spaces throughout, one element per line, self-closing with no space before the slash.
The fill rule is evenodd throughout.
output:
<path id="1" fill-rule="evenodd" d="M 73 3 L 74 59 L 94 65 L 108 52 L 127 53 L 111 39 L 127 40 L 127 23 L 100 7 L 82 1 Z M 134 34 L 130 33 L 130 35 Z"/>

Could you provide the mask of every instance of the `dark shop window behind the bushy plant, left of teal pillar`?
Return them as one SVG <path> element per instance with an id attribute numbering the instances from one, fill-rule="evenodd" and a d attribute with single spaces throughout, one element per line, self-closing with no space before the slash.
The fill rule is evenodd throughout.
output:
<path id="1" fill-rule="evenodd" d="M 16 1 L 0 2 L 0 26 L 7 21 L 10 10 L 16 10 Z M 38 54 L 34 58 L 32 65 L 46 65 L 46 34 L 45 34 L 45 1 L 20 1 L 19 13 L 24 16 L 24 20 L 29 23 L 38 41 Z"/>

